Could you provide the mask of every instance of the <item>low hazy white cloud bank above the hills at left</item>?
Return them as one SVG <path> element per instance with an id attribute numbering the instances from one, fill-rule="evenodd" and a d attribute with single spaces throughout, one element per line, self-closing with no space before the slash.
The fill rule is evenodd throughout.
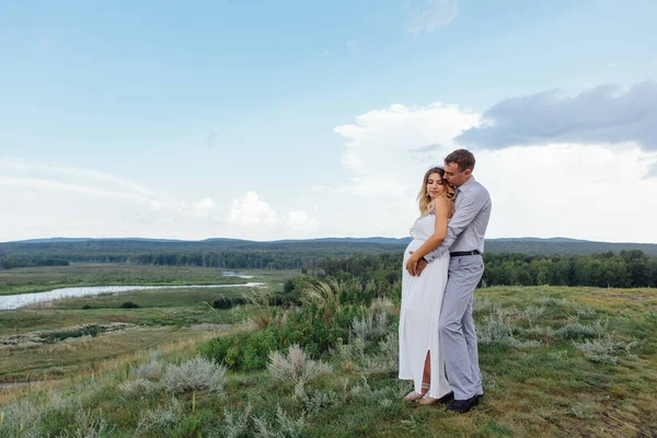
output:
<path id="1" fill-rule="evenodd" d="M 255 192 L 152 191 L 89 169 L 9 158 L 0 161 L 0 241 L 47 237 L 147 237 L 272 240 L 313 237 L 314 214 L 276 211 Z M 311 208 L 312 205 L 309 206 Z M 47 215 L 44 212 L 47 211 Z"/>

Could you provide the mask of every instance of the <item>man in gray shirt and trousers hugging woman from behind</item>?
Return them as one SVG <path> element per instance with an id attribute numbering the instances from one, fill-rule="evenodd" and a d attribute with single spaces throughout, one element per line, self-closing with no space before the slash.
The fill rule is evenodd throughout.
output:
<path id="1" fill-rule="evenodd" d="M 445 159 L 445 180 L 457 191 L 454 216 L 440 246 L 424 256 L 414 275 L 450 251 L 449 276 L 440 312 L 440 349 L 454 401 L 447 411 L 465 413 L 484 395 L 472 319 L 474 289 L 484 274 L 484 234 L 491 218 L 488 191 L 472 176 L 474 155 L 459 149 Z"/>

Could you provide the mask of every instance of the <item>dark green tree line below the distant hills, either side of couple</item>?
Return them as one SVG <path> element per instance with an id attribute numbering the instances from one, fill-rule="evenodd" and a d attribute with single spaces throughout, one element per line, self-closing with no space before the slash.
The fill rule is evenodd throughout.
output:
<path id="1" fill-rule="evenodd" d="M 151 251 L 131 252 L 116 247 L 103 251 L 100 244 L 87 251 L 78 245 L 44 246 L 0 252 L 0 267 L 64 266 L 70 263 L 126 263 L 161 266 L 201 266 L 222 269 L 301 269 L 303 274 L 347 276 L 374 280 L 379 285 L 401 278 L 403 247 L 368 244 L 280 244 L 276 250 Z M 384 251 L 383 251 L 383 250 Z M 7 247 L 5 247 L 7 250 Z M 108 249 L 107 249 L 108 250 Z M 360 250 L 360 251 L 358 251 Z M 394 251 L 393 251 L 394 250 Z M 43 251 L 43 252 L 41 252 Z M 371 251 L 372 253 L 365 253 Z M 378 252 L 378 253 L 377 253 Z M 482 286 L 595 286 L 657 287 L 657 256 L 641 250 L 588 255 L 528 255 L 486 253 Z M 383 281 L 383 279 L 388 279 Z"/>

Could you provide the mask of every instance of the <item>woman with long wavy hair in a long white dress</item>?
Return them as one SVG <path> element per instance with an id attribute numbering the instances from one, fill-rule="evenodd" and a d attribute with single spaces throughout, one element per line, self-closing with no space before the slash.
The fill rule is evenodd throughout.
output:
<path id="1" fill-rule="evenodd" d="M 414 391 L 404 400 L 433 404 L 450 392 L 440 357 L 438 319 L 447 285 L 449 253 L 412 276 L 418 260 L 442 243 L 453 215 L 456 193 L 443 180 L 445 171 L 433 168 L 424 176 L 417 195 L 419 218 L 413 241 L 404 252 L 402 309 L 400 314 L 400 379 L 413 380 Z"/>

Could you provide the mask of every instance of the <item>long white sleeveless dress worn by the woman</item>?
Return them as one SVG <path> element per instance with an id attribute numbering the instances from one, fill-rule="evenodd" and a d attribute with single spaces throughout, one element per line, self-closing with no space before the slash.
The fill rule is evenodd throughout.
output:
<path id="1" fill-rule="evenodd" d="M 430 351 L 431 384 L 428 395 L 440 399 L 450 392 L 440 355 L 438 320 L 447 285 L 449 252 L 433 261 L 414 277 L 406 270 L 408 251 L 417 250 L 431 234 L 436 216 L 422 216 L 413 227 L 413 240 L 404 251 L 402 265 L 402 309 L 400 313 L 400 379 L 413 380 L 422 392 L 422 379 L 427 351 Z"/>

